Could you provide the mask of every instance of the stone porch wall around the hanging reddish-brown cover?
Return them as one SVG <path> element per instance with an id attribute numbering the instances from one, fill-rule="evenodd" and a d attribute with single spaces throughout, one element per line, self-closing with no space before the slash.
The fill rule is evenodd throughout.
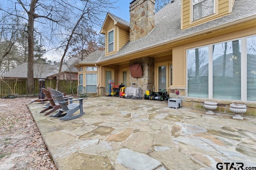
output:
<path id="1" fill-rule="evenodd" d="M 140 59 L 134 59 L 130 61 L 130 64 L 141 64 L 142 77 L 131 77 L 130 86 L 142 88 L 142 94 L 146 93 L 146 90 L 152 90 L 154 88 L 154 59 L 150 57 L 142 57 Z M 135 83 L 135 85 L 132 85 Z"/>

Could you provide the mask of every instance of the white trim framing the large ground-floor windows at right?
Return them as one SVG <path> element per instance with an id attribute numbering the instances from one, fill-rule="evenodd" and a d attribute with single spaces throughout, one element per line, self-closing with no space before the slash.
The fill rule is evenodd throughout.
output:
<path id="1" fill-rule="evenodd" d="M 220 43 L 225 43 L 229 41 L 241 40 L 241 100 L 230 100 L 230 101 L 239 101 L 239 102 L 252 102 L 247 100 L 247 38 L 255 37 L 256 35 L 250 35 L 246 37 L 240 37 L 236 39 L 230 39 L 226 41 L 221 41 L 217 43 L 212 43 L 209 45 L 198 46 L 190 49 L 186 49 L 186 88 L 188 87 L 188 50 L 207 47 L 209 50 L 209 61 L 208 61 L 208 98 L 200 98 L 200 99 L 210 99 L 210 100 L 220 100 L 226 101 L 225 99 L 213 99 L 213 61 L 212 61 L 212 47 L 213 45 L 217 45 Z M 243 76 L 244 75 L 244 76 Z M 194 98 L 196 97 L 188 97 L 188 90 L 186 90 L 186 98 Z"/>

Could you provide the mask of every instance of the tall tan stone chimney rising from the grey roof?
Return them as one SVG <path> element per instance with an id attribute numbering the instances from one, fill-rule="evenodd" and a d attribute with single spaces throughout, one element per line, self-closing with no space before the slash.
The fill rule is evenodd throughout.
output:
<path id="1" fill-rule="evenodd" d="M 130 3 L 130 41 L 147 36 L 155 27 L 155 0 Z"/>

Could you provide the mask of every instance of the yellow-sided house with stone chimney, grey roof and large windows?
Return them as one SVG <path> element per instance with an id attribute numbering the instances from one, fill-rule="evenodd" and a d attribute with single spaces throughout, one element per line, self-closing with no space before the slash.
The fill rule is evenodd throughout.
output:
<path id="1" fill-rule="evenodd" d="M 154 4 L 133 0 L 130 23 L 106 15 L 105 52 L 94 63 L 77 65 L 96 66 L 97 96 L 109 94 L 113 79 L 143 93 L 168 89 L 183 107 L 203 109 L 204 101 L 214 101 L 217 111 L 229 112 L 238 103 L 256 116 L 254 0 L 172 0 L 156 14 Z M 134 64 L 141 65 L 142 76 L 131 76 Z"/>

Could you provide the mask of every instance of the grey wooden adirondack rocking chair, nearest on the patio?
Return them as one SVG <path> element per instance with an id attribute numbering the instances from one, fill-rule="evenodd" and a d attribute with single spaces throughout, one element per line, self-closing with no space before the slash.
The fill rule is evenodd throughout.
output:
<path id="1" fill-rule="evenodd" d="M 55 115 L 51 115 L 51 117 L 61 117 L 64 115 L 64 117 L 60 118 L 60 120 L 71 120 L 71 119 L 76 119 L 76 118 L 84 115 L 84 112 L 83 112 L 83 99 L 84 98 L 70 100 L 70 101 L 72 101 L 72 103 L 67 105 L 68 101 L 64 100 L 64 97 L 62 96 L 61 92 L 52 89 L 52 94 L 56 98 L 56 102 L 58 102 L 60 104 L 61 108 L 59 109 L 58 113 L 56 113 Z M 79 101 L 79 104 L 73 103 L 74 101 Z M 76 111 L 78 111 L 78 109 L 80 109 L 80 113 L 78 115 L 71 116 Z M 62 114 L 63 112 L 67 112 L 67 113 Z"/>

